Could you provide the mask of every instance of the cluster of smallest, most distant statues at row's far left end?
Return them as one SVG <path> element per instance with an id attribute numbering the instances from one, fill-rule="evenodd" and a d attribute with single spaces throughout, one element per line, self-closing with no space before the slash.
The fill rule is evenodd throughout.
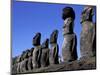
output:
<path id="1" fill-rule="evenodd" d="M 34 51 L 34 48 L 31 48 L 30 50 L 27 49 L 23 51 L 21 55 L 19 55 L 16 58 L 13 58 L 13 65 L 12 65 L 12 72 L 13 73 L 20 73 L 25 72 L 27 70 L 33 69 L 32 66 L 32 52 Z"/>

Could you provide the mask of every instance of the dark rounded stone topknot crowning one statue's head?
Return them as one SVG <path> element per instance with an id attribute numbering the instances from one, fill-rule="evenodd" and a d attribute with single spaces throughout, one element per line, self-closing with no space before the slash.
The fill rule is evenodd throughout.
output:
<path id="1" fill-rule="evenodd" d="M 73 20 L 75 19 L 75 12 L 72 7 L 63 8 L 62 19 L 65 20 L 68 17 L 71 17 Z"/>

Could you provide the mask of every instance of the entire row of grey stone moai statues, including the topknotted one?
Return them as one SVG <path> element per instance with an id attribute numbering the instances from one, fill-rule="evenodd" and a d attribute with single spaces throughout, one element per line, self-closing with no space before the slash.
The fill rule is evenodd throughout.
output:
<path id="1" fill-rule="evenodd" d="M 80 51 L 82 57 L 92 57 L 96 55 L 96 25 L 93 23 L 94 9 L 86 6 L 81 14 L 82 31 L 80 35 Z M 63 62 L 77 60 L 77 37 L 74 33 L 75 12 L 72 7 L 63 8 Z M 15 72 L 26 72 L 40 67 L 47 67 L 52 64 L 59 64 L 59 46 L 57 44 L 58 30 L 54 30 L 50 39 L 46 39 L 42 44 L 41 33 L 33 37 L 33 46 L 30 50 L 24 51 L 16 58 L 16 63 L 12 66 Z M 50 48 L 49 48 L 50 43 Z"/>

